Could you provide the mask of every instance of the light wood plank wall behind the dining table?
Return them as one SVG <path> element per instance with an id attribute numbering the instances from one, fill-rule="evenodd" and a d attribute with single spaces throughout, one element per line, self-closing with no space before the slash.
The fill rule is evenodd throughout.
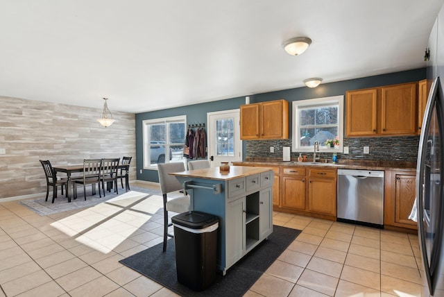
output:
<path id="1" fill-rule="evenodd" d="M 114 112 L 111 102 L 108 106 L 116 121 L 104 128 L 96 121 L 102 109 L 0 96 L 0 202 L 46 194 L 39 160 L 56 166 L 132 156 L 130 180 L 135 179 L 135 114 Z"/>

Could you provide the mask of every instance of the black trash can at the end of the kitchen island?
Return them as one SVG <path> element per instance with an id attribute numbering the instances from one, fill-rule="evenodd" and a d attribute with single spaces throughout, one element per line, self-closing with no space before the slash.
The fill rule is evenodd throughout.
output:
<path id="1" fill-rule="evenodd" d="M 183 212 L 171 218 L 174 226 L 178 282 L 195 291 L 216 278 L 219 218 L 205 212 Z"/>

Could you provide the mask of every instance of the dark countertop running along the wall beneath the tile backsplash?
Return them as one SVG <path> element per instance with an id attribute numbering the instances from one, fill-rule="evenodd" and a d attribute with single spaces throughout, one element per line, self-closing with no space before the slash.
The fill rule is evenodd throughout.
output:
<path id="1" fill-rule="evenodd" d="M 366 169 L 366 170 L 416 170 L 416 162 L 407 161 L 388 161 L 388 160 L 339 160 L 338 163 L 333 164 L 332 160 L 321 159 L 318 162 L 297 162 L 291 160 L 284 162 L 277 158 L 246 158 L 244 162 L 233 162 L 233 164 L 255 165 L 260 164 L 263 166 L 316 166 L 316 167 L 329 167 L 338 169 Z"/>

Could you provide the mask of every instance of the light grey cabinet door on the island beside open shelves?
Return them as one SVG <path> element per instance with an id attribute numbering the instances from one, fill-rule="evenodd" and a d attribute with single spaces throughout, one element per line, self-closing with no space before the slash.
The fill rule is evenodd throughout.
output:
<path id="1" fill-rule="evenodd" d="M 227 267 L 237 262 L 245 253 L 245 211 L 245 197 L 231 201 L 227 205 L 227 212 L 225 214 L 225 248 L 227 260 L 225 266 Z"/>

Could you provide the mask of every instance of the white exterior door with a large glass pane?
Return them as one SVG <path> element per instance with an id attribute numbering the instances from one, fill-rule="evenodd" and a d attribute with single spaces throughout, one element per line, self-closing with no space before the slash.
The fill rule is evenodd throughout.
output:
<path id="1" fill-rule="evenodd" d="M 240 110 L 207 113 L 208 159 L 211 167 L 221 162 L 242 161 Z"/>

